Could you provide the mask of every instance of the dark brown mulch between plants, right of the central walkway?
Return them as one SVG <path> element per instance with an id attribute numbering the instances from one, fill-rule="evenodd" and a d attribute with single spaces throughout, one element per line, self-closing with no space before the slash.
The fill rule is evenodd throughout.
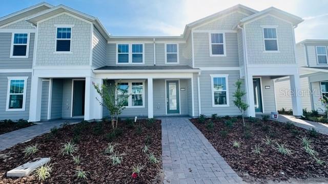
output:
<path id="1" fill-rule="evenodd" d="M 328 178 L 328 136 L 318 134 L 316 137 L 310 136 L 310 131 L 292 126 L 290 129 L 283 123 L 268 121 L 254 123 L 254 120 L 246 120 L 249 126 L 251 137 L 245 138 L 242 120 L 238 119 L 233 128 L 229 129 L 224 122 L 227 119 L 214 120 L 214 130 L 207 129 L 208 122 L 199 123 L 198 119 L 190 121 L 207 137 L 213 147 L 228 162 L 228 164 L 245 180 L 266 182 L 268 180 L 288 180 L 289 178 Z M 222 136 L 220 131 L 229 131 L 228 136 Z M 295 133 L 298 130 L 299 134 Z M 294 134 L 292 133 L 294 132 Z M 295 136 L 295 134 L 297 134 Z M 316 161 L 302 148 L 299 139 L 308 136 L 312 140 L 312 147 L 318 152 L 317 157 L 325 162 L 323 165 L 316 164 Z M 266 145 L 263 139 L 270 136 L 274 141 L 271 145 Z M 233 147 L 233 142 L 240 143 L 239 148 Z M 277 145 L 285 144 L 292 151 L 291 155 L 281 155 L 277 151 Z M 253 152 L 255 145 L 261 147 L 261 154 Z"/>

